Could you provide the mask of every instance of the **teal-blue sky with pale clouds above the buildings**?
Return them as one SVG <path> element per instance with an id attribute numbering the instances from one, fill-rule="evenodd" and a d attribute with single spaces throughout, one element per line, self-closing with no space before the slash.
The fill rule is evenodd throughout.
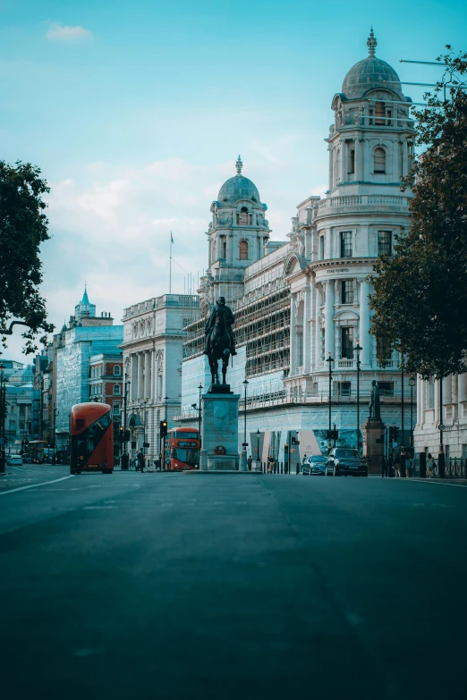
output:
<path id="1" fill-rule="evenodd" d="M 446 43 L 467 50 L 467 4 L 289 0 L 0 0 L 0 157 L 52 188 L 43 293 L 61 326 L 81 298 L 119 321 L 206 266 L 209 207 L 243 174 L 284 240 L 326 190 L 332 97 L 367 55 L 431 82 Z M 404 88 L 414 100 L 418 88 Z M 14 339 L 6 355 L 20 358 Z"/>

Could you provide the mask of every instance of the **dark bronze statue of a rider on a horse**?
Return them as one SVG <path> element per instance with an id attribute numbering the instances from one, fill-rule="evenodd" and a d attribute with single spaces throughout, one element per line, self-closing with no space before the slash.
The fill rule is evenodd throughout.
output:
<path id="1" fill-rule="evenodd" d="M 204 328 L 206 335 L 204 354 L 208 355 L 212 384 L 219 384 L 218 360 L 222 359 L 222 384 L 225 384 L 229 358 L 237 354 L 232 331 L 233 323 L 232 309 L 226 306 L 224 297 L 219 297 Z"/>

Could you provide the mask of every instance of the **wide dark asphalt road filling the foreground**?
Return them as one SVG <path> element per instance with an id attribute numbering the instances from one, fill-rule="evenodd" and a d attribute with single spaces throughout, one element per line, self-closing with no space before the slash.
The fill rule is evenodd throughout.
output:
<path id="1" fill-rule="evenodd" d="M 5 700 L 467 696 L 467 487 L 64 477 L 0 479 Z"/>

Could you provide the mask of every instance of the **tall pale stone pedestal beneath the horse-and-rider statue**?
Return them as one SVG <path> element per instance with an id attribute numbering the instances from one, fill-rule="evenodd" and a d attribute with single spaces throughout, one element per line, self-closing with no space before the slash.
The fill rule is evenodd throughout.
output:
<path id="1" fill-rule="evenodd" d="M 229 384 L 213 384 L 202 395 L 200 470 L 238 471 L 238 401 Z"/>

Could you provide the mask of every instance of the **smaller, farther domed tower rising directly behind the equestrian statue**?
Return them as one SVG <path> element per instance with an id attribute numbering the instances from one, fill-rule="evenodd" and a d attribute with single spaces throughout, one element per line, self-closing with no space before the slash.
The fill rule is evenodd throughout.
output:
<path id="1" fill-rule="evenodd" d="M 261 203 L 254 182 L 242 175 L 242 167 L 238 156 L 237 174 L 225 181 L 211 205 L 207 234 L 214 299 L 223 296 L 227 302 L 242 294 L 245 268 L 264 256 L 270 233 L 267 205 Z"/>

